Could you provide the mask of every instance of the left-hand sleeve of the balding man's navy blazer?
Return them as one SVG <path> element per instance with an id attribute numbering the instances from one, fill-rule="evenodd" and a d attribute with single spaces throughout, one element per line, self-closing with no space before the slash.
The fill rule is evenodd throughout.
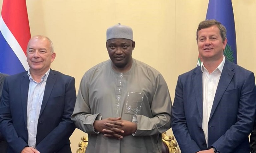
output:
<path id="1" fill-rule="evenodd" d="M 21 150 L 28 146 L 21 137 L 18 136 L 13 123 L 10 111 L 9 103 L 9 82 L 8 77 L 5 78 L 3 94 L 0 100 L 0 131 L 8 142 L 9 146 L 12 147 L 15 152 L 21 152 Z"/>

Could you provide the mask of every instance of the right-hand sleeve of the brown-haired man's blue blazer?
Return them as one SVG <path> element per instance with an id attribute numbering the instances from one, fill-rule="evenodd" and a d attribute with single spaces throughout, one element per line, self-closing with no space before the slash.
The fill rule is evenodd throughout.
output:
<path id="1" fill-rule="evenodd" d="M 255 119 L 255 78 L 250 72 L 245 74 L 244 81 L 240 86 L 241 93 L 239 98 L 239 106 L 237 113 L 237 122 L 232 125 L 224 135 L 222 135 L 215 143 L 215 147 L 219 152 L 232 152 L 240 143 L 248 139 L 251 133 Z"/>

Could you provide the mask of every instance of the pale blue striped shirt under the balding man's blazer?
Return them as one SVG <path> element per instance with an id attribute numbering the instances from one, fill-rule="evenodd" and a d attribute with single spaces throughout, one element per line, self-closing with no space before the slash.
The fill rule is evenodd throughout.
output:
<path id="1" fill-rule="evenodd" d="M 28 146 L 36 147 L 36 133 L 38 118 L 43 101 L 44 89 L 50 69 L 41 77 L 40 82 L 33 80 L 30 70 L 28 71 L 29 88 L 27 101 L 27 129 L 28 129 Z"/>

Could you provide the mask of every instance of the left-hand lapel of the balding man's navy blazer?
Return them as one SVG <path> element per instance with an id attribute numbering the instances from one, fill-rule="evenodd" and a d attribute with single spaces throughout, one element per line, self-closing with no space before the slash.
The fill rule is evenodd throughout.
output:
<path id="1" fill-rule="evenodd" d="M 21 93 L 21 104 L 23 110 L 23 118 L 25 125 L 27 127 L 27 103 L 28 103 L 28 88 L 29 88 L 29 78 L 27 71 L 24 73 L 23 78 L 20 80 L 20 93 Z M 18 98 L 18 97 L 17 97 Z"/>

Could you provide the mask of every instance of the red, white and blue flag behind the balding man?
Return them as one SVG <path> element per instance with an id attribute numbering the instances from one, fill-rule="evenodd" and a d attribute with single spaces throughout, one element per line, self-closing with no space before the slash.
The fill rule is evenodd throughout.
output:
<path id="1" fill-rule="evenodd" d="M 26 0 L 3 0 L 0 17 L 0 72 L 17 74 L 29 69 L 26 48 L 30 39 Z"/>

